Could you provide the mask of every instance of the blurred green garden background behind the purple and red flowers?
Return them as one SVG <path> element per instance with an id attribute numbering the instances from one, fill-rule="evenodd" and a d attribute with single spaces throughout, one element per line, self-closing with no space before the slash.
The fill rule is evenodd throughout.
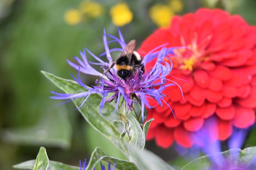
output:
<path id="1" fill-rule="evenodd" d="M 40 146 L 50 160 L 74 166 L 89 159 L 96 146 L 125 159 L 73 110 L 72 102 L 56 106 L 61 101 L 49 99 L 49 91 L 58 90 L 40 71 L 70 79 L 69 73 L 77 72 L 66 59 L 79 56 L 85 46 L 96 55 L 103 53 L 104 28 L 117 36 L 119 26 L 126 41 L 136 39 L 140 44 L 166 24 L 157 19 L 159 10 L 169 20 L 200 7 L 222 8 L 256 24 L 255 0 L 0 0 L 0 169 L 35 159 Z M 94 83 L 94 78 L 83 79 Z M 172 149 L 162 150 L 154 142 L 147 148 L 166 161 L 177 158 Z"/>

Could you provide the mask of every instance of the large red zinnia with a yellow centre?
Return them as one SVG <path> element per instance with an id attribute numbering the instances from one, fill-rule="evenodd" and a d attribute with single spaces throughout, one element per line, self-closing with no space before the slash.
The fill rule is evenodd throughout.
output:
<path id="1" fill-rule="evenodd" d="M 175 16 L 167 29 L 157 29 L 141 45 L 143 56 L 168 42 L 167 47 L 186 46 L 170 57 L 173 71 L 164 94 L 168 106 L 148 109 L 150 125 L 147 139 L 168 148 L 174 141 L 185 147 L 193 145 L 191 134 L 210 116 L 218 117 L 218 139 L 225 140 L 232 128 L 254 124 L 256 109 L 256 27 L 239 15 L 220 9 L 199 9 L 182 17 Z M 180 56 L 180 57 L 179 57 Z M 155 61 L 146 65 L 150 68 Z M 183 80 L 180 80 L 183 79 Z M 186 80 L 186 81 L 184 81 Z M 150 101 L 151 102 L 151 101 Z M 153 102 L 153 101 L 152 101 Z"/>

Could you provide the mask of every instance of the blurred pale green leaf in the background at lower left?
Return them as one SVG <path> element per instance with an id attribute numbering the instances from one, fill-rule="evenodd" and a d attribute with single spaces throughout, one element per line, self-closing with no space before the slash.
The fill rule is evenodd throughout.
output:
<path id="1" fill-rule="evenodd" d="M 35 126 L 3 131 L 3 139 L 8 143 L 61 148 L 70 147 L 71 135 L 71 124 L 63 106 L 45 113 Z"/>

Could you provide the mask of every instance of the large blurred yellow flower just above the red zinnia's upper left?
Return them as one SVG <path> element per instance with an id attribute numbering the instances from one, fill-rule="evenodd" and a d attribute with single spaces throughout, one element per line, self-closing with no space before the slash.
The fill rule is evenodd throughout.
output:
<path id="1" fill-rule="evenodd" d="M 157 26 L 168 26 L 173 11 L 166 4 L 155 4 L 149 9 L 149 16 Z"/>

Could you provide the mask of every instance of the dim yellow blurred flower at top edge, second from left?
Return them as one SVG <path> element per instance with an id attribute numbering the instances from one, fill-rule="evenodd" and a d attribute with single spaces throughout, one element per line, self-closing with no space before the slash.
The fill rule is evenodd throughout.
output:
<path id="1" fill-rule="evenodd" d="M 92 18 L 97 18 L 103 14 L 104 7 L 98 2 L 83 1 L 79 5 L 79 10 Z"/>

